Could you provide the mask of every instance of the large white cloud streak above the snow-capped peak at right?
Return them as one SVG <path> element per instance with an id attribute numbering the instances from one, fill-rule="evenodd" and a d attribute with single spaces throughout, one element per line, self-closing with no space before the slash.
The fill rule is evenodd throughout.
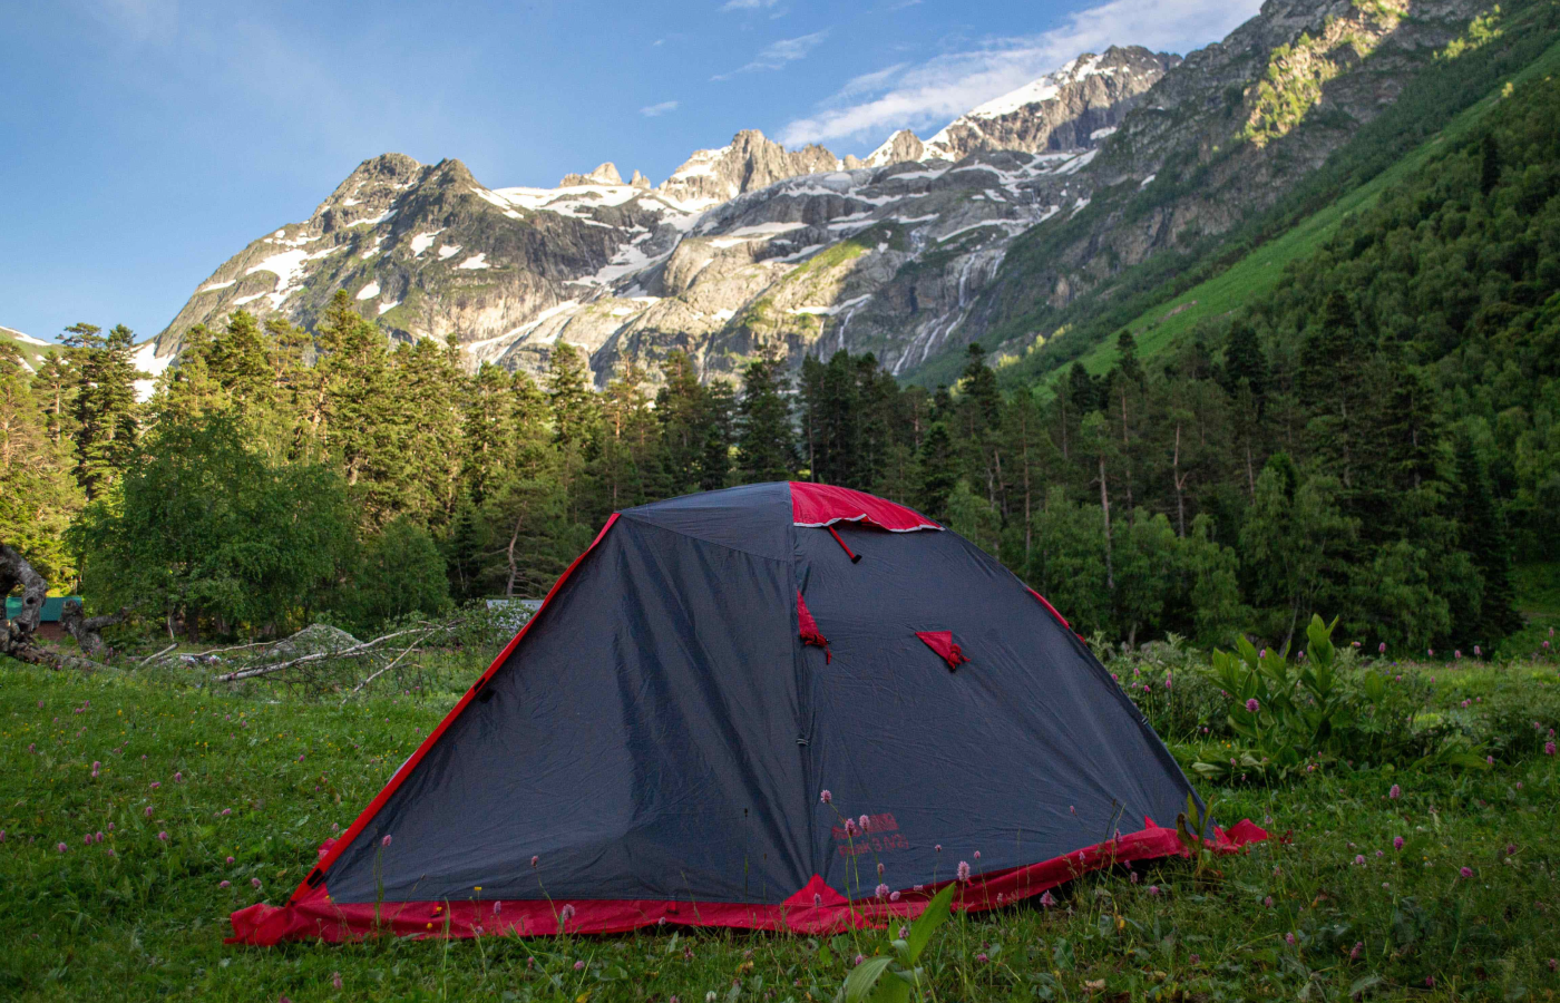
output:
<path id="1" fill-rule="evenodd" d="M 1189 51 L 1221 39 L 1257 8 L 1260 0 L 1109 0 L 1069 14 L 1050 31 L 998 37 L 908 69 L 889 67 L 856 76 L 821 111 L 789 122 L 780 131 L 780 142 L 870 139 L 899 128 L 941 126 L 1080 53 L 1098 53 L 1111 45 Z"/>

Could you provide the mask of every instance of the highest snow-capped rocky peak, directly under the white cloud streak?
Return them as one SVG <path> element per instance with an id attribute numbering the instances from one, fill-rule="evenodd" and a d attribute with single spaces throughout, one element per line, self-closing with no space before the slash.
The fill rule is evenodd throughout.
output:
<path id="1" fill-rule="evenodd" d="M 924 156 L 958 161 L 981 150 L 1087 150 L 1109 136 L 1140 95 L 1179 62 L 1179 56 L 1142 45 L 1084 53 L 1055 73 L 959 115 L 927 140 Z"/>

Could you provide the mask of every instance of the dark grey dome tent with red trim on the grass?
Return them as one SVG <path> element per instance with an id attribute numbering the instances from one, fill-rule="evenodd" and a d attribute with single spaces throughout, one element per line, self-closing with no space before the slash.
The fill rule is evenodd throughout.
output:
<path id="1" fill-rule="evenodd" d="M 870 494 L 757 484 L 613 515 L 290 902 L 232 914 L 234 942 L 821 931 L 950 880 L 984 909 L 1186 853 L 1153 819 L 1190 792 L 994 558 Z"/>

